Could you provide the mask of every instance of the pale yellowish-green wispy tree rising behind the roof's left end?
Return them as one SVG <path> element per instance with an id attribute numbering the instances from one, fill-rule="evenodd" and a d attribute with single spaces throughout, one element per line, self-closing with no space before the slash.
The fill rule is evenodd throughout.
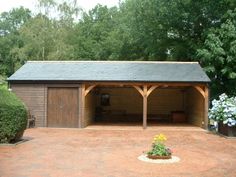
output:
<path id="1" fill-rule="evenodd" d="M 50 11 L 52 10 L 52 12 Z M 21 52 L 27 60 L 75 59 L 71 39 L 79 8 L 75 3 L 40 0 L 40 13 L 20 29 L 25 46 Z M 53 17 L 53 12 L 57 17 Z"/>

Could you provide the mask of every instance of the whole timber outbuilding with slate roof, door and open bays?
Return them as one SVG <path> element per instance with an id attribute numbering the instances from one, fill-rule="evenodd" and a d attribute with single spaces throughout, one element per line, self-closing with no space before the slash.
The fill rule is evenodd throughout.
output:
<path id="1" fill-rule="evenodd" d="M 208 126 L 210 79 L 197 62 L 29 61 L 8 82 L 37 127 Z"/>

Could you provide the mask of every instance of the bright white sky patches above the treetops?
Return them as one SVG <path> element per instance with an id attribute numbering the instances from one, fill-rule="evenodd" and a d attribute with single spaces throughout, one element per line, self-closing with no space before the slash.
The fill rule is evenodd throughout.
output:
<path id="1" fill-rule="evenodd" d="M 118 5 L 119 0 L 77 0 L 80 7 L 88 11 L 92 9 L 96 4 L 107 5 L 112 7 Z M 4 11 L 9 11 L 12 8 L 17 8 L 20 6 L 29 8 L 34 12 L 37 5 L 37 0 L 0 0 L 0 13 Z"/>

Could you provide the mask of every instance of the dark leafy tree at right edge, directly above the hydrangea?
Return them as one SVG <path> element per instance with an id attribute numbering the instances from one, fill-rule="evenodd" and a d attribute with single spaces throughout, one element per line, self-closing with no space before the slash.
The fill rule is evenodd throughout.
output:
<path id="1" fill-rule="evenodd" d="M 236 9 L 229 10 L 218 28 L 212 28 L 197 51 L 212 80 L 213 95 L 236 94 Z M 217 96 L 217 95 L 216 95 Z"/>

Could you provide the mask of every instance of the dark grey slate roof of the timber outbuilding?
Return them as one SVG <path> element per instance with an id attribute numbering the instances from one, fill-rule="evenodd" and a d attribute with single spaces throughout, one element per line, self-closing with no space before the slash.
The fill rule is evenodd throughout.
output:
<path id="1" fill-rule="evenodd" d="M 14 81 L 210 82 L 197 62 L 29 61 Z"/>

